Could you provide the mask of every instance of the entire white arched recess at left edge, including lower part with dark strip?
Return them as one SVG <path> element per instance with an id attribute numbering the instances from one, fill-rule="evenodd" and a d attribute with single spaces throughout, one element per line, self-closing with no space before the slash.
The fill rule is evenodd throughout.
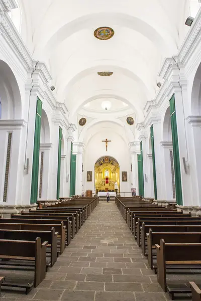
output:
<path id="1" fill-rule="evenodd" d="M 9 65 L 0 60 L 0 202 L 13 204 L 16 200 L 16 179 L 23 166 L 20 162 L 21 118 L 21 95 L 16 77 Z"/>

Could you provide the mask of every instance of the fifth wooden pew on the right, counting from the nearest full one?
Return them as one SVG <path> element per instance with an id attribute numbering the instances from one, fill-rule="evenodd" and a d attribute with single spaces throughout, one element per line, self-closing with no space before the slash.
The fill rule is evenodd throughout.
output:
<path id="1" fill-rule="evenodd" d="M 131 229 L 132 229 L 132 233 L 134 234 L 135 238 L 137 238 L 136 236 L 136 224 L 138 221 L 138 218 L 140 219 L 146 219 L 146 220 L 175 220 L 175 219 L 180 219 L 180 218 L 189 218 L 191 217 L 190 213 L 186 213 L 186 214 L 182 214 L 180 212 L 173 212 L 173 213 L 137 213 L 133 215 L 133 221 L 132 221 L 132 225 L 131 225 Z"/>

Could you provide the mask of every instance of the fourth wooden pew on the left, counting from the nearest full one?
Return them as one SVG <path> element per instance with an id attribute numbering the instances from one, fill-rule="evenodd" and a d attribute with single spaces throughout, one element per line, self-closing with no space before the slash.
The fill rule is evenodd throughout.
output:
<path id="1" fill-rule="evenodd" d="M 51 225 L 52 227 L 54 227 L 53 225 L 59 225 L 61 226 L 61 222 L 63 222 L 63 225 L 65 226 L 65 231 L 66 231 L 66 244 L 69 245 L 70 244 L 70 240 L 71 240 L 71 234 L 70 234 L 70 222 L 69 219 L 67 219 L 66 221 L 60 221 L 60 220 L 46 220 L 46 219 L 22 219 L 22 218 L 0 218 L 0 228 L 1 228 L 1 224 L 48 224 Z M 54 227 L 55 228 L 55 227 Z M 56 228 L 55 228 L 56 229 Z M 22 229 L 23 230 L 23 229 Z M 56 229 L 57 231 L 57 229 Z M 57 231 L 58 232 L 58 231 Z"/>

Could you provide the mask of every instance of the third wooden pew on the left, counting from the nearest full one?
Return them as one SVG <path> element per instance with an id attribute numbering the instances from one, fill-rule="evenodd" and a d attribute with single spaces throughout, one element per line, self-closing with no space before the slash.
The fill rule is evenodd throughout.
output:
<path id="1" fill-rule="evenodd" d="M 16 223 L 0 223 L 0 230 L 23 230 L 23 231 L 51 231 L 54 228 L 55 232 L 58 233 L 59 239 L 57 242 L 57 247 L 59 246 L 60 254 L 65 250 L 65 245 L 67 245 L 65 238 L 66 226 L 61 224 L 16 224 Z M 39 236 L 40 237 L 40 236 Z"/>

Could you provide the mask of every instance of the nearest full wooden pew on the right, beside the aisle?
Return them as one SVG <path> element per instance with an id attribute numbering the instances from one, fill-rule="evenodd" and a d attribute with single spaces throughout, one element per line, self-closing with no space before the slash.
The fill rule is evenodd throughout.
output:
<path id="1" fill-rule="evenodd" d="M 156 244 L 157 254 L 157 278 L 165 292 L 169 292 L 174 298 L 174 293 L 190 293 L 190 288 L 171 288 L 167 286 L 166 265 L 198 265 L 201 268 L 201 243 L 165 243 L 160 240 Z M 193 266 L 194 269 L 194 266 Z"/>

